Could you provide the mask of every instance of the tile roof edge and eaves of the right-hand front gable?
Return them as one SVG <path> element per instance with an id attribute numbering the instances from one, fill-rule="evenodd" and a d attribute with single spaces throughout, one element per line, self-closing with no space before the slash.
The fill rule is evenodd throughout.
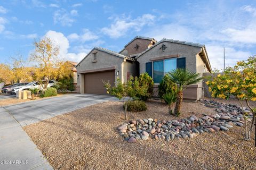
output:
<path id="1" fill-rule="evenodd" d="M 188 46 L 200 47 L 202 49 L 202 52 L 199 53 L 199 54 L 201 55 L 203 61 L 205 62 L 207 69 L 211 72 L 212 68 L 211 68 L 211 64 L 209 62 L 209 58 L 208 58 L 208 54 L 206 52 L 205 45 L 204 44 L 199 44 L 199 43 L 191 43 L 191 42 L 187 42 L 187 41 L 180 41 L 180 40 L 163 38 L 162 40 L 158 41 L 156 44 L 154 44 L 150 48 L 146 49 L 144 52 L 141 52 L 136 58 L 139 58 L 142 54 L 147 53 L 148 50 L 154 48 L 155 46 L 157 46 L 158 44 L 161 44 L 163 42 L 170 42 L 170 43 L 177 43 L 177 44 L 184 44 L 184 45 L 188 45 Z"/>

